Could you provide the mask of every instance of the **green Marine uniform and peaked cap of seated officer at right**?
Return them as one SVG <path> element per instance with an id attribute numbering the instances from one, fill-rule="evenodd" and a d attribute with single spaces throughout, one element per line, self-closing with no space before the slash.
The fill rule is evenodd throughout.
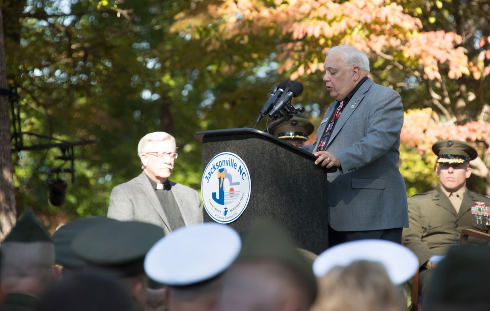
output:
<path id="1" fill-rule="evenodd" d="M 439 166 L 469 163 L 478 156 L 470 144 L 456 140 L 438 141 L 432 150 L 438 155 Z M 418 258 L 422 298 L 434 270 L 427 266 L 429 260 L 434 262 L 433 256 L 444 256 L 452 245 L 459 244 L 464 229 L 489 232 L 486 221 L 478 221 L 472 214 L 471 209 L 476 206 L 488 208 L 490 197 L 469 191 L 465 181 L 457 191 L 450 192 L 439 185 L 408 198 L 409 227 L 403 230 L 402 244 Z"/>

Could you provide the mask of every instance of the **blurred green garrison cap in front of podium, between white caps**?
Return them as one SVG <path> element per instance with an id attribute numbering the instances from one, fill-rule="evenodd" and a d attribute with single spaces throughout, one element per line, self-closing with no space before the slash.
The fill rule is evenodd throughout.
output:
<path id="1" fill-rule="evenodd" d="M 309 285 L 312 297 L 317 285 L 311 261 L 301 253 L 291 235 L 271 219 L 255 220 L 242 234 L 242 249 L 236 262 L 274 260 L 296 270 Z"/>

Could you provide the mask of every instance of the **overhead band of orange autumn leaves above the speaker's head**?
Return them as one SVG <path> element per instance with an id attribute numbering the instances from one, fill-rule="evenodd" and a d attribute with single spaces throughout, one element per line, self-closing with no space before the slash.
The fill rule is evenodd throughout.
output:
<path id="1" fill-rule="evenodd" d="M 291 79 L 321 70 L 318 64 L 332 44 L 350 44 L 400 66 L 420 66 L 430 80 L 441 79 L 440 64 L 447 64 L 451 79 L 469 75 L 470 71 L 475 76 L 477 72 L 490 71 L 489 66 L 479 68 L 469 63 L 464 48 L 455 48 L 462 42 L 460 35 L 443 30 L 422 31 L 421 21 L 405 14 L 392 1 L 209 2 L 199 2 L 196 8 L 177 15 L 172 31 L 183 31 L 202 40 L 208 51 L 223 48 L 226 40 L 248 44 L 253 35 L 283 36 L 277 57 L 282 61 L 279 71 L 290 72 Z M 489 59 L 488 52 L 485 58 Z"/>

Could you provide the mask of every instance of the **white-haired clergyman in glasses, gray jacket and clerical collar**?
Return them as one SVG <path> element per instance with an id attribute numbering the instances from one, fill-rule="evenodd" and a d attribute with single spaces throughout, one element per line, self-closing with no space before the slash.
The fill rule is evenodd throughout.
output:
<path id="1" fill-rule="evenodd" d="M 168 179 L 178 156 L 176 150 L 175 138 L 168 133 L 145 135 L 138 144 L 143 172 L 114 187 L 107 217 L 152 223 L 165 234 L 203 222 L 198 192 Z"/>

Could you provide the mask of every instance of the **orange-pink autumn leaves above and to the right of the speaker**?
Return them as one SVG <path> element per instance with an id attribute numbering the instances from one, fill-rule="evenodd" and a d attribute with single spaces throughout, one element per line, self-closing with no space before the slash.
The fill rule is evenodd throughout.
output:
<path id="1" fill-rule="evenodd" d="M 379 79 L 376 82 L 399 91 L 418 86 L 427 94 L 411 98 L 413 102 L 404 99 L 407 107 L 420 103 L 430 107 L 407 111 L 402 131 L 404 152 L 416 152 L 420 156 L 417 161 L 433 165 L 431 145 L 438 139 L 452 138 L 473 142 L 481 160 L 488 158 L 489 120 L 475 120 L 476 116 L 471 120 L 461 113 L 461 107 L 482 101 L 476 97 L 483 95 L 481 87 L 470 92 L 464 84 L 455 83 L 462 79 L 484 83 L 490 72 L 490 39 L 485 35 L 480 38 L 477 57 L 473 57 L 468 50 L 474 46 L 469 37 L 427 29 L 417 14 L 408 14 L 409 9 L 388 0 L 215 0 L 194 4 L 176 15 L 171 31 L 198 40 L 208 52 L 226 50 L 231 42 L 246 46 L 255 44 L 257 38 L 268 40 L 273 48 L 258 50 L 257 58 L 275 52 L 278 72 L 291 80 L 323 71 L 324 54 L 331 46 L 349 44 L 365 51 Z M 413 6 L 423 12 L 423 6 Z M 410 78 L 416 86 L 403 81 Z"/>

